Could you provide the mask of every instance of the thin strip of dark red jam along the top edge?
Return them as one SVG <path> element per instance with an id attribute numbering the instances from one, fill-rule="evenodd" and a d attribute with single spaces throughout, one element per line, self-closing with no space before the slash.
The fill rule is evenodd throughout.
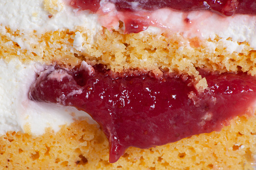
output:
<path id="1" fill-rule="evenodd" d="M 73 0 L 71 4 L 82 10 L 94 13 L 100 8 L 101 0 Z M 210 10 L 225 16 L 234 14 L 256 14 L 255 0 L 109 0 L 118 11 L 157 10 L 171 8 L 179 11 Z"/>

